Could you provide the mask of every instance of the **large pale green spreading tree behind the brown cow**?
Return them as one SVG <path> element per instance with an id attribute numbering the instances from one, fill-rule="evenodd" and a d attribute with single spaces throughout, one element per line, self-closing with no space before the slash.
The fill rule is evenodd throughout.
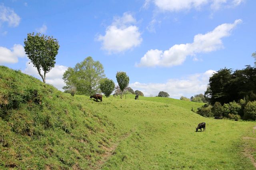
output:
<path id="1" fill-rule="evenodd" d="M 94 95 L 100 92 L 100 80 L 105 77 L 104 69 L 100 61 L 94 61 L 87 57 L 74 68 L 69 67 L 63 74 L 62 79 L 66 86 L 64 90 L 76 87 L 77 94 Z"/>

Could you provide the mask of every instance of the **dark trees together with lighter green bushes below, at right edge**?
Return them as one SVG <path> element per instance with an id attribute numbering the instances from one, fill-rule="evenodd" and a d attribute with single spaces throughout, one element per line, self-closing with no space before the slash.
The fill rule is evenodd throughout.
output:
<path id="1" fill-rule="evenodd" d="M 214 73 L 204 97 L 208 104 L 198 108 L 205 117 L 256 120 L 256 52 L 254 67 L 244 69 L 224 68 Z"/>

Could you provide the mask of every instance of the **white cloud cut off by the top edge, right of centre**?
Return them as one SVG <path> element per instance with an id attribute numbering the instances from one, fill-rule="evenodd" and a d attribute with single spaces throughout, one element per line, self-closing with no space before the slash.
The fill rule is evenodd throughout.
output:
<path id="1" fill-rule="evenodd" d="M 148 0 L 145 3 L 148 3 Z M 244 0 L 154 0 L 154 4 L 162 11 L 180 12 L 192 8 L 200 9 L 210 4 L 212 10 L 240 5 Z"/>

